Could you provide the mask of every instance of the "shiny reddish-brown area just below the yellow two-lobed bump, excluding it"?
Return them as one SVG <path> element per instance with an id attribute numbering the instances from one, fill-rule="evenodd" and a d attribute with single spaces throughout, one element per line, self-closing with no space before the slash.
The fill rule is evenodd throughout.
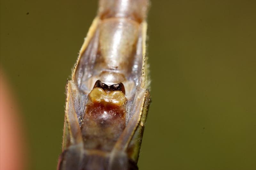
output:
<path id="1" fill-rule="evenodd" d="M 86 149 L 111 151 L 125 128 L 125 106 L 92 102 L 86 107 L 82 133 Z"/>

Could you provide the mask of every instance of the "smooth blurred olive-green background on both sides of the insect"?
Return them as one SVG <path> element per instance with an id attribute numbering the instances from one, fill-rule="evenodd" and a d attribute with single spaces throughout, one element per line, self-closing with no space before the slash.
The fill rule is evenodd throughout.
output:
<path id="1" fill-rule="evenodd" d="M 140 170 L 255 169 L 255 7 L 152 0 Z M 1 68 L 21 107 L 30 170 L 56 169 L 66 80 L 96 10 L 92 0 L 1 0 Z"/>

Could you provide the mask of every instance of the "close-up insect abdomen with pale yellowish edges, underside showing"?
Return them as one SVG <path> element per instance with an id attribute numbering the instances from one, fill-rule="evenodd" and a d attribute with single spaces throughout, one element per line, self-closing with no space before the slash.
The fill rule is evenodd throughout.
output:
<path id="1" fill-rule="evenodd" d="M 100 0 L 67 82 L 58 170 L 135 170 L 149 106 L 148 0 Z"/>

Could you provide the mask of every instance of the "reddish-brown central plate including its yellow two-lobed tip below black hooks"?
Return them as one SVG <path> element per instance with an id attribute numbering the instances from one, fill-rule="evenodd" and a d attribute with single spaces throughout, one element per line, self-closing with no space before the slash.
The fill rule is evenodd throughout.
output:
<path id="1" fill-rule="evenodd" d="M 121 91 L 99 87 L 88 98 L 81 127 L 84 148 L 111 151 L 125 128 L 127 99 Z"/>

